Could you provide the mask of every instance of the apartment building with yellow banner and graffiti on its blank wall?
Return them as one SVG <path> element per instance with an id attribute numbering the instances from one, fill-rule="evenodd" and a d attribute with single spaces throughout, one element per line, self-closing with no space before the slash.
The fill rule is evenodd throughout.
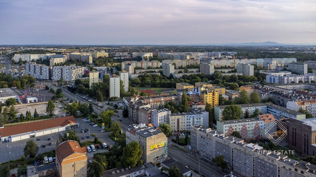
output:
<path id="1" fill-rule="evenodd" d="M 126 128 L 126 144 L 136 141 L 143 150 L 144 163 L 159 163 L 168 156 L 168 139 L 164 133 L 155 127 L 145 124 L 129 125 Z"/>

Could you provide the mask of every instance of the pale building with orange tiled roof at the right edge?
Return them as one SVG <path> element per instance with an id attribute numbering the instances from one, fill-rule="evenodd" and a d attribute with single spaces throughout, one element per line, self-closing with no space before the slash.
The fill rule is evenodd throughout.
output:
<path id="1" fill-rule="evenodd" d="M 301 108 L 316 117 L 316 100 L 288 101 L 286 108 L 299 111 Z"/>

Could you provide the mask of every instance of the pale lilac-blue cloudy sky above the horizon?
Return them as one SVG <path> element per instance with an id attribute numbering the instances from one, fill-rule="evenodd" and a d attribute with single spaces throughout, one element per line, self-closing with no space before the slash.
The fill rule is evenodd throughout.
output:
<path id="1" fill-rule="evenodd" d="M 315 0 L 0 0 L 0 45 L 316 43 Z"/>

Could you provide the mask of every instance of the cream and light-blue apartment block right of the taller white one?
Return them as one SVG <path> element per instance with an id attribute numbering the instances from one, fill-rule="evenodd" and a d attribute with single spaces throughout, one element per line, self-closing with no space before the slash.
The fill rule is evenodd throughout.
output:
<path id="1" fill-rule="evenodd" d="M 169 116 L 171 131 L 189 131 L 191 126 L 201 125 L 204 115 L 201 112 L 172 113 Z"/>

